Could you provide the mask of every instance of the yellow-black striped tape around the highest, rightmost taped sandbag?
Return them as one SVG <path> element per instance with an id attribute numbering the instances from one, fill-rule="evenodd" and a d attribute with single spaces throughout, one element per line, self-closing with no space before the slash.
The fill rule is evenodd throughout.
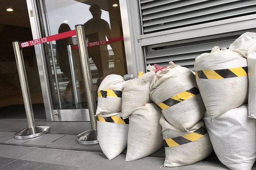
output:
<path id="1" fill-rule="evenodd" d="M 232 77 L 242 77 L 248 74 L 247 67 L 228 68 L 222 70 L 201 70 L 196 72 L 196 78 L 222 79 Z"/>

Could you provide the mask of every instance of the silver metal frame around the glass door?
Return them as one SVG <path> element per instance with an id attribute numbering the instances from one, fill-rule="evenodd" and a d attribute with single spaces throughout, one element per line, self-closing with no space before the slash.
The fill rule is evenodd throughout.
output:
<path id="1" fill-rule="evenodd" d="M 40 23 L 41 12 L 38 11 L 38 6 L 42 6 L 42 0 L 26 0 L 28 6 L 28 14 L 30 18 L 30 25 L 32 30 L 33 39 L 42 38 L 42 27 Z M 40 3 L 38 5 L 38 3 Z M 120 0 L 120 10 L 122 23 L 128 23 L 127 6 L 126 2 Z M 123 25 L 123 24 L 122 24 Z M 124 46 L 126 52 L 128 74 L 137 74 L 136 61 L 132 58 L 132 48 L 130 41 L 129 27 L 123 25 Z M 44 100 L 44 107 L 46 112 L 47 121 L 90 121 L 88 109 L 53 109 L 51 84 L 47 69 L 46 54 L 44 51 L 44 44 L 35 45 L 36 61 L 38 64 L 38 72 L 40 84 L 42 88 L 42 96 Z M 134 66 L 135 64 L 135 66 Z"/>

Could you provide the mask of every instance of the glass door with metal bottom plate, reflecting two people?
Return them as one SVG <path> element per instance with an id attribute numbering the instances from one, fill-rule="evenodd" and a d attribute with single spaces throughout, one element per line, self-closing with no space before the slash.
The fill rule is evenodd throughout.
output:
<path id="1" fill-rule="evenodd" d="M 95 96 L 107 75 L 127 74 L 118 0 L 39 0 L 38 6 L 44 37 L 84 24 Z M 76 36 L 44 44 L 52 121 L 89 120 L 76 44 Z"/>

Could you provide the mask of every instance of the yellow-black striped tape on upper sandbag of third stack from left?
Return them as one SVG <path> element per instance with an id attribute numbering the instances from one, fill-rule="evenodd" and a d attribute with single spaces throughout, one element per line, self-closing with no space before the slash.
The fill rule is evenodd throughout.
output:
<path id="1" fill-rule="evenodd" d="M 188 100 L 194 96 L 196 96 L 197 94 L 199 94 L 199 89 L 198 87 L 193 87 L 189 90 L 186 90 L 184 92 L 181 92 L 179 94 L 176 94 L 175 96 L 172 96 L 171 98 L 165 100 L 164 102 L 161 102 L 159 104 L 157 104 L 162 110 L 167 109 L 171 106 L 174 106 L 184 100 Z"/>

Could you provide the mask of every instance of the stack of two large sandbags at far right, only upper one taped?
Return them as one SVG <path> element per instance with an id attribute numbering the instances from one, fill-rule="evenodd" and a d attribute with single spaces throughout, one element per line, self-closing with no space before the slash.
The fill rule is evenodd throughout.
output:
<path id="1" fill-rule="evenodd" d="M 250 170 L 256 160 L 256 120 L 248 118 L 246 49 L 214 47 L 196 58 L 203 121 L 219 160 L 232 170 Z M 254 77 L 255 78 L 255 77 Z"/>

